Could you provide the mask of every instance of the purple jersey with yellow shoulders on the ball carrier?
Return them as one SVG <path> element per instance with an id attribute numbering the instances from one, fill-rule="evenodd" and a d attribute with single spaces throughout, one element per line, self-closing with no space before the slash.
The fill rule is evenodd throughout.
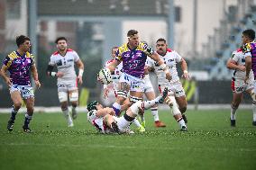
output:
<path id="1" fill-rule="evenodd" d="M 125 43 L 118 48 L 115 59 L 123 61 L 123 73 L 142 78 L 147 56 L 151 56 L 153 53 L 154 50 L 145 43 L 140 42 L 136 49 L 130 49 Z"/>

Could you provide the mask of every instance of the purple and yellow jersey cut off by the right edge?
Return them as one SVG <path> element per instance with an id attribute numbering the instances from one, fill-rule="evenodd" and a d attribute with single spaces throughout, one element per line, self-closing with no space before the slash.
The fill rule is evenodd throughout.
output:
<path id="1" fill-rule="evenodd" d="M 254 80 L 256 79 L 256 42 L 252 41 L 243 46 L 242 52 L 244 57 L 251 57 L 251 69 L 254 74 Z"/>

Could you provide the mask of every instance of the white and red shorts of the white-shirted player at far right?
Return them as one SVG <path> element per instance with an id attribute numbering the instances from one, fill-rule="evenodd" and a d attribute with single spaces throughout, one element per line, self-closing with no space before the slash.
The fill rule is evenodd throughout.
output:
<path id="1" fill-rule="evenodd" d="M 245 84 L 244 80 L 242 79 L 233 79 L 231 82 L 231 89 L 235 94 L 241 94 L 252 88 L 253 88 L 253 79 L 249 80 L 248 84 Z"/>

